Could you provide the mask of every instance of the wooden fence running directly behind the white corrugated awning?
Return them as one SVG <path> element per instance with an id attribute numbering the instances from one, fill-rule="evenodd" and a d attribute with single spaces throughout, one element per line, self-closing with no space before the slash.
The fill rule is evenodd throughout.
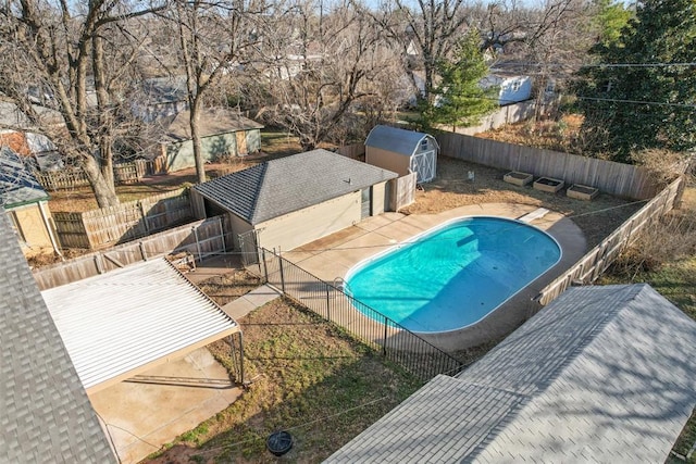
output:
<path id="1" fill-rule="evenodd" d="M 188 252 L 197 261 L 225 252 L 232 237 L 225 233 L 225 216 L 209 217 L 171 230 L 86 254 L 34 271 L 39 289 L 46 290 L 103 274 L 148 259 Z"/>

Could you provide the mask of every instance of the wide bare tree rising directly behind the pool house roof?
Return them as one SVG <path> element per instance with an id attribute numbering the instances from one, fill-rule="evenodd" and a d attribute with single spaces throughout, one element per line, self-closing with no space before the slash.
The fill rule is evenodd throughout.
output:
<path id="1" fill-rule="evenodd" d="M 345 139 L 346 130 L 362 131 L 357 110 L 370 98 L 377 103 L 380 81 L 394 77 L 382 43 L 361 9 L 287 5 L 265 30 L 257 66 L 263 83 L 253 98 L 259 115 L 298 136 L 304 150 L 339 133 Z"/>

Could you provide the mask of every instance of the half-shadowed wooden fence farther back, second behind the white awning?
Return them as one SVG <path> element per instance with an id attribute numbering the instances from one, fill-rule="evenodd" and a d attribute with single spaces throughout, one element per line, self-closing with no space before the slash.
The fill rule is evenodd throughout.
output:
<path id="1" fill-rule="evenodd" d="M 62 247 L 87 249 L 134 240 L 191 218 L 185 189 L 83 213 L 53 213 Z"/>

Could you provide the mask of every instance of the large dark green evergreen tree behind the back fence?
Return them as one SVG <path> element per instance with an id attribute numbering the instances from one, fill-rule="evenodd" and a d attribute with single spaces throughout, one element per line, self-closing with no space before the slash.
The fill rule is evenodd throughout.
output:
<path id="1" fill-rule="evenodd" d="M 598 64 L 576 88 L 591 151 L 631 162 L 643 149 L 696 148 L 696 0 L 645 0 L 592 52 Z"/>

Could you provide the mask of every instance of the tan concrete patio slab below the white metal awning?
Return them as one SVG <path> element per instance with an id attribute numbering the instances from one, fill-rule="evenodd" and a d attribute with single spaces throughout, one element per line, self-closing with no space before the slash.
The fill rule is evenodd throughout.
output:
<path id="1" fill-rule="evenodd" d="M 136 463 L 233 403 L 241 393 L 201 348 L 89 397 L 120 462 Z"/>

